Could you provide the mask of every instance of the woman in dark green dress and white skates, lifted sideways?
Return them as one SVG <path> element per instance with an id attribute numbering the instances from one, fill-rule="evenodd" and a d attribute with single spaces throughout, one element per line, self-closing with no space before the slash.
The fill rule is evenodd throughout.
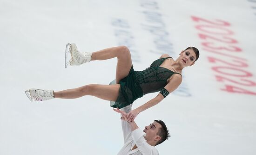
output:
<path id="1" fill-rule="evenodd" d="M 67 63 L 67 54 L 71 59 Z M 136 99 L 147 93 L 158 92 L 154 99 L 128 113 L 128 122 L 144 110 L 158 104 L 169 93 L 173 92 L 182 82 L 182 69 L 192 66 L 199 57 L 199 51 L 195 47 L 182 50 L 180 56 L 173 60 L 167 54 L 163 54 L 155 60 L 149 68 L 143 71 L 135 71 L 132 65 L 130 51 L 126 46 L 112 47 L 97 52 L 80 52 L 74 43 L 66 46 L 67 65 L 81 65 L 95 60 L 106 60 L 117 57 L 115 81 L 110 85 L 90 84 L 74 89 L 59 92 L 53 90 L 30 89 L 26 91 L 31 101 L 44 101 L 47 99 L 75 99 L 85 95 L 92 95 L 100 99 L 111 101 L 110 106 L 122 108 L 132 104 Z"/>

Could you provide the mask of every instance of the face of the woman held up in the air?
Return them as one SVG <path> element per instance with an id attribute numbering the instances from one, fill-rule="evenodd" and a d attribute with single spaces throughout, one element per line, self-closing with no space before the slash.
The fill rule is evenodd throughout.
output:
<path id="1" fill-rule="evenodd" d="M 188 50 L 182 50 L 180 53 L 180 56 L 178 57 L 178 61 L 182 63 L 182 66 L 192 66 L 195 64 L 195 52 L 194 50 L 188 49 Z"/>

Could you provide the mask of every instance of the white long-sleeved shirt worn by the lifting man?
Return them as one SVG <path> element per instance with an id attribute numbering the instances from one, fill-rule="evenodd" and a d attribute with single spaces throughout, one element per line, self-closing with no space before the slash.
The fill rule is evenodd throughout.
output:
<path id="1" fill-rule="evenodd" d="M 131 109 L 131 105 L 128 105 L 121 110 L 128 113 L 131 111 Z M 146 139 L 144 138 L 145 132 L 140 130 L 140 128 L 131 131 L 130 125 L 127 121 L 122 120 L 121 122 L 124 146 L 117 155 L 159 155 L 157 149 L 147 143 Z M 133 149 L 135 145 L 137 148 Z"/>

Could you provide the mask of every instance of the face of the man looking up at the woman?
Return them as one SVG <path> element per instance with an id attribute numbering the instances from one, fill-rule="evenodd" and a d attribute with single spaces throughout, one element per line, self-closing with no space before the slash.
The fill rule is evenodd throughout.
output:
<path id="1" fill-rule="evenodd" d="M 160 140 L 160 136 L 157 135 L 158 130 L 161 128 L 161 124 L 154 122 L 149 124 L 148 126 L 145 126 L 145 129 L 143 130 L 146 133 L 145 139 L 147 141 L 149 140 Z"/>

